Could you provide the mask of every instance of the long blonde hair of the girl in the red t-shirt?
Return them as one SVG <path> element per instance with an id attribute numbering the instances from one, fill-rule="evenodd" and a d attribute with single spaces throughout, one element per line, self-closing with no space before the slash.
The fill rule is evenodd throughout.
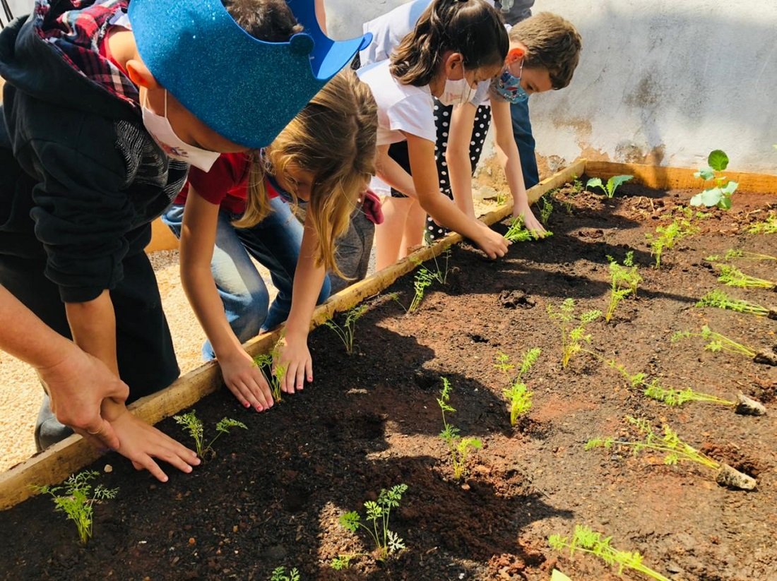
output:
<path id="1" fill-rule="evenodd" d="M 377 130 L 378 107 L 368 85 L 354 71 L 340 71 L 267 147 L 265 160 L 253 154 L 246 212 L 232 224 L 251 228 L 270 213 L 266 172 L 277 176 L 290 166 L 311 172 L 315 263 L 342 276 L 336 240 L 347 232 L 359 194 L 375 174 Z"/>

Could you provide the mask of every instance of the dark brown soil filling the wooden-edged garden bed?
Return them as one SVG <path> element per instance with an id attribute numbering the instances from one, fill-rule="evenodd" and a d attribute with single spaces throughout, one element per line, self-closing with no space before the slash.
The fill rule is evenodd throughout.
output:
<path id="1" fill-rule="evenodd" d="M 567 188 L 555 194 L 549 240 L 513 245 L 493 263 L 467 245 L 453 249 L 448 284 L 431 287 L 415 313 L 404 315 L 387 296 L 396 292 L 409 304 L 412 276 L 373 301 L 357 323 L 354 355 L 329 329 L 313 332 L 315 383 L 301 394 L 263 414 L 239 409 L 226 390 L 200 402 L 206 431 L 224 416 L 249 430 L 221 437 L 218 456 L 193 475 L 171 472 L 160 485 L 120 457 L 96 464 L 113 466 L 99 481 L 120 492 L 96 506 L 86 548 L 48 498 L 0 513 L 0 571 L 5 579 L 269 579 L 285 565 L 302 579 L 545 581 L 555 566 L 576 581 L 617 579 L 597 558 L 549 548 L 549 534 L 586 524 L 672 579 L 777 579 L 775 415 L 693 402 L 669 408 L 586 353 L 562 370 L 560 332 L 546 312 L 566 297 L 578 312 L 604 311 L 606 256 L 622 262 L 632 249 L 644 279 L 639 297 L 623 301 L 610 324 L 589 325 L 588 348 L 664 385 L 732 401 L 743 391 L 772 407 L 777 367 L 670 337 L 709 324 L 756 351 L 772 350 L 777 322 L 694 304 L 720 287 L 705 256 L 729 248 L 777 254 L 777 235 L 744 233 L 774 198 L 737 193 L 730 213 L 695 220 L 702 232 L 665 252 L 656 270 L 645 235 L 689 195 L 626 184 L 606 200 Z M 774 263 L 736 264 L 777 278 Z M 724 289 L 777 304 L 773 291 Z M 500 351 L 517 361 L 531 347 L 542 349 L 525 377 L 534 405 L 512 429 L 506 381 L 493 364 Z M 453 386 L 449 421 L 483 440 L 464 482 L 453 480 L 438 437 L 441 376 Z M 668 423 L 689 444 L 758 478 L 758 489 L 723 488 L 714 470 L 667 466 L 655 454 L 584 451 L 593 437 L 633 435 L 625 416 L 647 419 L 657 432 Z M 161 427 L 183 438 L 172 419 Z M 371 551 L 367 535 L 337 524 L 340 514 L 364 517 L 364 501 L 401 482 L 409 489 L 391 528 L 406 550 L 387 562 L 361 557 L 347 571 L 330 569 L 338 554 Z"/>

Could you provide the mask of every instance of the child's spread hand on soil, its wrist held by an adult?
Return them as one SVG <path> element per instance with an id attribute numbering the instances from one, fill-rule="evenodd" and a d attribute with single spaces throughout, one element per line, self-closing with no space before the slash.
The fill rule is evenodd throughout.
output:
<path id="1" fill-rule="evenodd" d="M 102 412 L 119 437 L 117 452 L 127 457 L 135 469 L 151 472 L 159 482 L 167 482 L 168 478 L 154 458 L 187 473 L 200 464 L 196 452 L 133 416 L 123 403 L 106 399 Z"/>

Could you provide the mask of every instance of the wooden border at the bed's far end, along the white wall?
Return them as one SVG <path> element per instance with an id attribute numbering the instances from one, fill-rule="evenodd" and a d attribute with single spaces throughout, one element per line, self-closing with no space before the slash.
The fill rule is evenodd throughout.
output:
<path id="1" fill-rule="evenodd" d="M 695 169 L 638 163 L 587 162 L 585 165 L 585 172 L 589 177 L 609 179 L 612 176 L 634 176 L 636 182 L 656 190 L 701 191 L 702 180 L 693 176 L 695 171 Z M 777 193 L 777 176 L 728 170 L 723 172 L 723 175 L 737 182 L 742 192 Z"/>

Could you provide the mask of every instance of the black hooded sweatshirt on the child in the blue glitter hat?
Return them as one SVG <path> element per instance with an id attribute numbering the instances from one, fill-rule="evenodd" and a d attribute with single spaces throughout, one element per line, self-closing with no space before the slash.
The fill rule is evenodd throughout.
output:
<path id="1" fill-rule="evenodd" d="M 33 15 L 0 33 L 0 254 L 45 257 L 46 277 L 64 302 L 91 301 L 116 287 L 124 258 L 142 252 L 150 222 L 186 180 L 188 166 L 153 141 L 138 103 L 83 70 L 106 60 L 94 51 L 79 68 L 68 37 L 47 40 L 63 22 L 84 22 L 82 36 L 96 46 L 110 25 L 105 12 L 121 16 L 126 6 L 38 0 Z M 95 7 L 96 23 L 91 15 L 78 20 Z"/>

